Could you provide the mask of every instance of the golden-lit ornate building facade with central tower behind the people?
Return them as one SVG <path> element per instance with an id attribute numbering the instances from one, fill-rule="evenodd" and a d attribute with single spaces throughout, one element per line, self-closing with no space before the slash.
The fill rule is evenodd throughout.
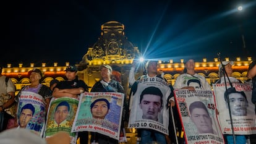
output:
<path id="1" fill-rule="evenodd" d="M 123 87 L 129 94 L 128 88 L 128 75 L 135 57 L 139 56 L 139 49 L 135 47 L 127 37 L 124 35 L 124 25 L 116 21 L 106 22 L 101 25 L 101 35 L 93 44 L 92 48 L 88 48 L 87 53 L 82 57 L 82 61 L 76 66 L 79 69 L 77 75 L 80 79 L 84 80 L 89 87 L 92 87 L 95 82 L 100 80 L 101 64 L 109 64 L 113 67 L 113 78 L 116 78 L 122 83 Z M 169 83 L 174 84 L 177 76 L 182 74 L 184 69 L 183 59 L 179 62 L 174 62 L 173 59 L 169 61 L 161 61 L 161 57 L 158 61 L 158 70 L 164 72 L 164 78 Z M 226 57 L 226 61 L 229 58 Z M 252 62 L 251 57 L 247 59 L 241 59 L 237 57 L 233 66 L 233 77 L 240 80 L 247 80 L 248 66 Z M 209 83 L 215 83 L 218 80 L 218 65 L 220 62 L 217 58 L 213 61 L 207 61 L 203 59 L 202 62 L 195 62 L 195 71 L 198 74 L 205 76 Z M 52 66 L 46 66 L 46 63 L 42 63 L 41 66 L 35 66 L 33 63 L 30 67 L 23 67 L 23 64 L 19 64 L 18 67 L 7 64 L 2 69 L 2 74 L 11 77 L 14 82 L 16 90 L 19 91 L 24 85 L 30 83 L 28 77 L 28 71 L 34 68 L 38 68 L 43 72 L 42 83 L 49 86 L 49 82 L 56 78 L 58 80 L 64 80 L 66 66 L 69 62 L 66 62 L 65 66 L 58 66 L 58 62 L 54 62 Z M 143 70 L 139 69 L 135 77 L 142 75 Z"/>

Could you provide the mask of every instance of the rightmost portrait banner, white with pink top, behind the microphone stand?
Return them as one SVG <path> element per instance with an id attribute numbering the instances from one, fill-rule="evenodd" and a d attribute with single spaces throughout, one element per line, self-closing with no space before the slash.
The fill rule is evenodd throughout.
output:
<path id="1" fill-rule="evenodd" d="M 232 134 L 227 101 L 229 97 L 234 133 L 237 135 L 255 134 L 255 105 L 251 101 L 252 85 L 250 83 L 233 83 L 233 88 L 231 88 L 228 83 L 227 88 L 228 91 L 226 91 L 224 83 L 213 85 L 222 132 Z M 226 96 L 224 96 L 225 94 Z"/>

